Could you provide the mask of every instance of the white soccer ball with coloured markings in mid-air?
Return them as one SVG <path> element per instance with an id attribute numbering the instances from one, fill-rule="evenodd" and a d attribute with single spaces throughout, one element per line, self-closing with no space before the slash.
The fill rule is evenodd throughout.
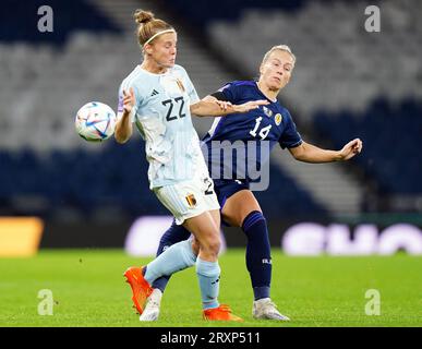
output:
<path id="1" fill-rule="evenodd" d="M 101 142 L 114 133 L 114 111 L 104 103 L 89 101 L 76 113 L 77 134 L 88 142 Z"/>

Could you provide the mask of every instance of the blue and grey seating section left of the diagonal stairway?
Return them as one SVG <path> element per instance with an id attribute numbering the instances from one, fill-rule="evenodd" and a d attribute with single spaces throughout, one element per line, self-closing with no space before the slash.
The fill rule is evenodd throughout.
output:
<path id="1" fill-rule="evenodd" d="M 15 13 L 15 2 L 2 4 L 9 10 L 0 15 L 0 80 L 8 81 L 9 88 L 2 89 L 0 104 L 14 108 L 13 116 L 7 108 L 0 110 L 1 215 L 109 219 L 111 215 L 167 214 L 148 190 L 138 136 L 124 146 L 113 140 L 98 145 L 87 144 L 74 132 L 77 108 L 97 98 L 116 106 L 119 83 L 140 59 L 131 13 L 120 22 L 110 21 L 99 11 L 99 2 L 94 3 L 50 1 L 55 32 L 48 34 L 34 31 L 37 9 L 44 3 L 28 4 L 33 11 L 25 8 L 19 23 L 10 23 L 5 14 Z M 116 14 L 119 5 L 133 9 L 128 1 L 110 5 L 116 7 L 111 11 Z M 25 17 L 32 12 L 31 19 Z M 123 28 L 116 24 L 125 22 L 132 25 Z M 201 95 L 231 80 L 213 68 L 206 52 L 195 49 L 188 33 L 181 47 L 180 62 L 191 68 Z M 203 134 L 206 128 L 200 130 Z M 278 181 L 272 184 L 282 192 L 277 207 L 274 194 L 258 194 L 269 215 L 277 214 L 276 208 L 298 214 L 324 212 L 278 168 L 272 168 L 272 178 L 282 179 L 282 185 Z"/>

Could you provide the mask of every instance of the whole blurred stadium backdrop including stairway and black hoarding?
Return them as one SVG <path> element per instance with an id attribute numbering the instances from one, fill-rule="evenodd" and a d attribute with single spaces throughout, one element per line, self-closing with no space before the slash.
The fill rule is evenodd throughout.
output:
<path id="1" fill-rule="evenodd" d="M 52 33 L 37 28 L 41 5 L 53 10 Z M 369 5 L 381 9 L 379 33 L 365 31 Z M 422 228 L 419 0 L 2 1 L 0 218 L 41 218 L 41 249 L 122 248 L 137 217 L 167 215 L 148 190 L 138 135 L 124 146 L 88 144 L 73 127 L 89 100 L 116 109 L 120 82 L 141 60 L 137 8 L 176 26 L 177 63 L 201 97 L 256 77 L 263 55 L 289 45 L 297 67 L 280 100 L 303 139 L 335 149 L 363 141 L 363 153 L 343 164 L 299 164 L 274 151 L 269 189 L 256 193 L 273 245 L 298 222 L 350 233 L 362 225 Z M 212 121 L 195 120 L 200 135 Z M 402 248 L 411 241 L 422 253 L 415 231 L 413 240 L 402 232 Z M 225 234 L 229 246 L 244 244 L 241 231 Z"/>

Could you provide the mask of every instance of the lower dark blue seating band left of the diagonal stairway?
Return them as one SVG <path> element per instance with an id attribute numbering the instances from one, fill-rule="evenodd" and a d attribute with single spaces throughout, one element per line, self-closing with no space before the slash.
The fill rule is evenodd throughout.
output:
<path id="1" fill-rule="evenodd" d="M 2 214 L 55 217 L 63 207 L 82 217 L 98 215 L 103 207 L 117 207 L 126 217 L 167 214 L 148 190 L 143 143 L 108 142 L 99 153 L 52 151 L 39 157 L 31 149 L 0 152 Z M 324 213 L 290 178 L 270 170 L 272 188 L 282 195 L 275 205 L 274 191 L 257 193 L 267 215 Z"/>

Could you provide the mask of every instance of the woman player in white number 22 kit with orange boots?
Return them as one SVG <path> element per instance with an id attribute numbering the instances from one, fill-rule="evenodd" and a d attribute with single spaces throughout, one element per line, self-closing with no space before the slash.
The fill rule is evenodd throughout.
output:
<path id="1" fill-rule="evenodd" d="M 154 14 L 137 10 L 134 14 L 137 39 L 143 50 L 142 64 L 123 80 L 119 92 L 119 121 L 114 137 L 125 143 L 132 134 L 132 122 L 146 142 L 150 189 L 201 244 L 197 258 L 192 243 L 174 244 L 146 267 L 130 267 L 124 273 L 132 287 L 133 302 L 140 313 L 150 285 L 162 276 L 196 264 L 196 274 L 206 320 L 241 321 L 227 305 L 220 305 L 220 268 L 217 254 L 220 246 L 219 204 L 205 165 L 200 140 L 193 128 L 191 112 L 197 116 L 219 116 L 244 112 L 267 104 L 249 101 L 226 106 L 200 100 L 185 70 L 174 64 L 177 33 Z"/>

